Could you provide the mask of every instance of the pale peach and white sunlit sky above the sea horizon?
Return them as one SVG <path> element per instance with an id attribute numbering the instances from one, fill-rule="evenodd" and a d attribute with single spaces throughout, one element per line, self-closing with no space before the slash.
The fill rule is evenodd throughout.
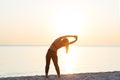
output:
<path id="1" fill-rule="evenodd" d="M 120 45 L 120 0 L 0 0 L 0 45 Z"/>

